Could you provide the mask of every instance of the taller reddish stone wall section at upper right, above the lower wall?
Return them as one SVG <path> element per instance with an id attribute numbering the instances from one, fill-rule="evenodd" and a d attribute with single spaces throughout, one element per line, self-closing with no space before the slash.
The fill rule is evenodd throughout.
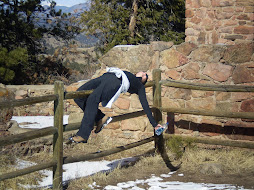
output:
<path id="1" fill-rule="evenodd" d="M 185 41 L 237 44 L 254 39 L 253 0 L 186 0 Z"/>

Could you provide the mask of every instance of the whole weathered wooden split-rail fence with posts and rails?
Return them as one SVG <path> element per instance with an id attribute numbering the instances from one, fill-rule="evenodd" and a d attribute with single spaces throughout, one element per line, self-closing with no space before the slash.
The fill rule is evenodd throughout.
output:
<path id="1" fill-rule="evenodd" d="M 153 87 L 153 107 L 152 112 L 155 119 L 158 122 L 162 120 L 162 112 L 167 112 L 172 114 L 194 114 L 194 115 L 203 115 L 203 116 L 215 116 L 215 117 L 227 117 L 227 118 L 242 118 L 242 119 L 254 119 L 253 112 L 222 112 L 222 111 L 199 111 L 199 110 L 189 110 L 184 108 L 169 108 L 163 107 L 161 103 L 161 86 L 175 87 L 175 88 L 184 88 L 184 89 L 193 89 L 193 90 L 205 90 L 205 91 L 224 91 L 224 92 L 254 92 L 253 86 L 244 86 L 244 85 L 204 85 L 204 84 L 193 84 L 187 82 L 180 82 L 174 80 L 161 80 L 161 71 L 159 69 L 153 70 L 153 81 L 149 81 L 146 84 L 146 87 Z M 164 140 L 169 139 L 174 134 L 166 134 L 160 136 L 152 136 L 127 144 L 125 146 L 116 147 L 110 150 L 105 150 L 102 152 L 91 153 L 87 155 L 72 155 L 71 157 L 63 156 L 63 132 L 77 130 L 80 126 L 80 123 L 72 123 L 63 125 L 63 110 L 64 110 L 64 100 L 73 99 L 78 97 L 88 96 L 92 93 L 92 90 L 89 91 L 79 91 L 79 92 L 65 92 L 63 82 L 56 81 L 54 84 L 54 94 L 40 97 L 31 97 L 22 100 L 12 100 L 0 102 L 0 110 L 4 108 L 11 108 L 17 106 L 31 105 L 35 103 L 54 101 L 54 126 L 47 127 L 35 131 L 25 132 L 21 134 L 11 135 L 7 137 L 2 137 L 0 139 L 0 147 L 20 143 L 23 141 L 32 140 L 39 137 L 44 137 L 47 135 L 53 134 L 53 159 L 50 162 L 38 164 L 31 166 L 25 169 L 17 170 L 14 172 L 9 172 L 0 175 L 0 181 L 5 179 L 10 179 L 18 177 L 21 175 L 29 174 L 35 171 L 47 169 L 53 167 L 53 189 L 63 189 L 62 175 L 63 175 L 63 164 L 87 161 L 95 158 L 100 158 L 115 154 L 130 148 L 134 148 L 145 143 L 154 141 L 155 148 L 161 153 L 163 160 L 167 166 L 171 169 L 174 167 L 170 164 L 170 161 L 166 155 Z M 130 119 L 145 115 L 144 111 L 137 111 L 132 113 L 127 113 L 119 116 L 114 116 L 112 122 L 117 122 L 125 119 Z M 171 125 L 172 126 L 172 125 Z M 185 137 L 182 137 L 185 138 Z M 188 137 L 189 138 L 189 137 Z M 254 149 L 254 142 L 251 141 L 234 141 L 234 140 L 215 140 L 208 138 L 193 138 L 196 143 L 204 144 L 214 144 L 214 145 L 224 145 L 224 146 L 234 146 L 241 148 L 251 148 Z"/>

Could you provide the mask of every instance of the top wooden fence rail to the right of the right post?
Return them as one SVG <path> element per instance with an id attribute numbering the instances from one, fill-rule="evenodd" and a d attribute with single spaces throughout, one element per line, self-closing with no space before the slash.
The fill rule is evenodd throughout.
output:
<path id="1" fill-rule="evenodd" d="M 254 92 L 254 86 L 247 85 L 217 85 L 217 84 L 194 84 L 190 82 L 162 80 L 161 85 L 175 88 L 192 90 L 222 91 L 222 92 Z"/>

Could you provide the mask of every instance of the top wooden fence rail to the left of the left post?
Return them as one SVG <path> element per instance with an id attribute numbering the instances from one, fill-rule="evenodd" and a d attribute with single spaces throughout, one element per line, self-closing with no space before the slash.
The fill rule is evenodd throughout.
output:
<path id="1" fill-rule="evenodd" d="M 30 97 L 25 98 L 22 100 L 6 100 L 4 102 L 0 102 L 0 109 L 4 108 L 11 108 L 11 107 L 18 107 L 18 106 L 25 106 L 31 105 L 41 102 L 49 102 L 57 100 L 58 96 L 55 94 L 47 95 L 47 96 L 40 96 L 40 97 Z"/>

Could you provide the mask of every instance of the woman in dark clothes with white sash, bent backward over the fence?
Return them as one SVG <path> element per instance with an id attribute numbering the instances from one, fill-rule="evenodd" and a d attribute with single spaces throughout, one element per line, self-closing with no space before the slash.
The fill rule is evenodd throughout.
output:
<path id="1" fill-rule="evenodd" d="M 84 111 L 84 116 L 79 131 L 75 136 L 69 138 L 68 143 L 86 143 L 94 128 L 94 124 L 96 125 L 95 133 L 99 133 L 112 120 L 111 117 L 101 112 L 98 108 L 99 103 L 101 102 L 103 107 L 111 108 L 112 103 L 117 100 L 121 93 L 125 92 L 137 94 L 152 126 L 155 130 L 163 129 L 153 118 L 146 99 L 144 85 L 147 80 L 148 75 L 145 72 L 139 72 L 135 76 L 128 71 L 111 67 L 102 76 L 82 85 L 78 91 L 94 91 L 86 98 L 74 100 Z"/>

